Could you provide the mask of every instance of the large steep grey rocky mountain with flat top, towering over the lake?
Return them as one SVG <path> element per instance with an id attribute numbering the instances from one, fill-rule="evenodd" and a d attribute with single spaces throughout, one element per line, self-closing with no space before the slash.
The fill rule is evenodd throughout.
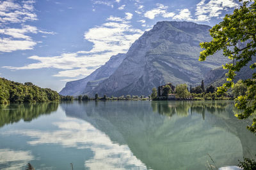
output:
<path id="1" fill-rule="evenodd" d="M 193 22 L 157 22 L 136 40 L 116 71 L 99 83 L 89 96 L 145 95 L 153 87 L 172 82 L 195 85 L 205 74 L 228 61 L 221 52 L 199 62 L 199 43 L 211 41 L 208 25 Z"/>

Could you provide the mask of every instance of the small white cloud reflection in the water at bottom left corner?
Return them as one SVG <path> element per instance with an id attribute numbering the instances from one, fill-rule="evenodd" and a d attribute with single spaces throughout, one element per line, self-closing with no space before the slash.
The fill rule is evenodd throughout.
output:
<path id="1" fill-rule="evenodd" d="M 0 149 L 0 165 L 8 165 L 5 169 L 21 169 L 35 159 L 31 152 L 22 150 Z"/>

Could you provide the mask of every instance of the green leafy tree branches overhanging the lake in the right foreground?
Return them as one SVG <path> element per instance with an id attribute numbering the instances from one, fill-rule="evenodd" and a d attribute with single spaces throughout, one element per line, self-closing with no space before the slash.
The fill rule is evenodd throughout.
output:
<path id="1" fill-rule="evenodd" d="M 234 86 L 236 72 L 242 67 L 255 69 L 256 63 L 246 66 L 256 54 L 256 3 L 255 0 L 239 0 L 241 5 L 230 15 L 226 15 L 220 24 L 214 25 L 210 30 L 212 41 L 200 43 L 204 50 L 200 53 L 199 60 L 204 61 L 207 56 L 223 50 L 223 55 L 230 59 L 230 62 L 223 66 L 228 69 L 227 83 L 218 88 L 218 93 L 227 92 Z M 236 97 L 236 107 L 243 110 L 237 113 L 239 119 L 250 117 L 256 111 L 256 73 L 252 78 L 243 80 L 246 85 L 246 95 Z M 251 126 L 247 127 L 251 132 L 256 133 L 256 118 Z"/>

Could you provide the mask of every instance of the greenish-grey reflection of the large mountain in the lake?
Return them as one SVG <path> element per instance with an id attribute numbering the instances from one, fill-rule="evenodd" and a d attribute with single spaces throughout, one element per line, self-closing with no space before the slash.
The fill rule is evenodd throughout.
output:
<path id="1" fill-rule="evenodd" d="M 231 101 L 89 102 L 61 104 L 68 117 L 90 122 L 111 141 L 128 145 L 150 169 L 205 169 L 253 158 L 256 138 L 234 117 Z"/>

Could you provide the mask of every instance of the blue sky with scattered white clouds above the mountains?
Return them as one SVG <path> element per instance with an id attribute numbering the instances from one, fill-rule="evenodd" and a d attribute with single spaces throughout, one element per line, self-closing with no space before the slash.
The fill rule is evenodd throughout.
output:
<path id="1" fill-rule="evenodd" d="M 235 0 L 0 0 L 0 76 L 60 91 L 162 20 L 215 25 Z"/>

